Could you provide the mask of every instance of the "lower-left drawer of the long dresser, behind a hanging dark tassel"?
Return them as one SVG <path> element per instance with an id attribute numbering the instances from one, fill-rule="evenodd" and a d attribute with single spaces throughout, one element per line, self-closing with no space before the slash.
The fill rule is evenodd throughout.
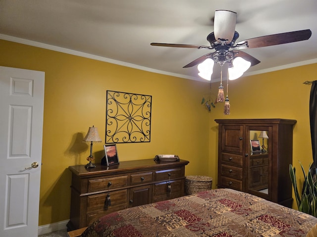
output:
<path id="1" fill-rule="evenodd" d="M 127 204 L 127 190 L 120 190 L 115 192 L 109 192 L 110 194 L 110 200 L 111 200 L 111 206 L 108 206 L 105 208 L 105 202 L 108 192 L 103 194 L 96 194 L 88 196 L 87 198 L 87 212 L 89 211 L 99 211 L 104 209 L 112 209 L 113 207 L 117 205 L 126 205 Z"/>

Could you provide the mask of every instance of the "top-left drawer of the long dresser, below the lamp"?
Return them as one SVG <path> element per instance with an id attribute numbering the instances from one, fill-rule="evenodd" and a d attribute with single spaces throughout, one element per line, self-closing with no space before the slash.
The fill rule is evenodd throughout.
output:
<path id="1" fill-rule="evenodd" d="M 128 185 L 128 176 L 117 176 L 102 179 L 88 180 L 88 192 L 101 191 L 113 188 L 121 188 Z"/>

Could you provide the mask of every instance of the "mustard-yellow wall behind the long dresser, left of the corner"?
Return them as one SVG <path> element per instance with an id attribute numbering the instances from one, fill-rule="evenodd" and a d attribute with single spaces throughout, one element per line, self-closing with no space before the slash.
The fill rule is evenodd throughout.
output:
<path id="1" fill-rule="evenodd" d="M 105 142 L 106 90 L 152 95 L 151 142 L 117 144 L 120 161 L 177 154 L 186 174 L 208 174 L 209 114 L 200 106 L 207 83 L 149 73 L 0 40 L 0 65 L 45 72 L 39 225 L 69 219 L 71 174 L 86 164 L 89 126 Z M 205 88 L 207 85 L 207 88 Z M 104 143 L 94 145 L 96 162 Z"/>

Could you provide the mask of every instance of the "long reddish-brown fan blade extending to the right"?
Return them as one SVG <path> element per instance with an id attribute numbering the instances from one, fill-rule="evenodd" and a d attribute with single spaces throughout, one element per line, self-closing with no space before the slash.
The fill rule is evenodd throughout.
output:
<path id="1" fill-rule="evenodd" d="M 292 31 L 269 36 L 260 36 L 249 40 L 243 40 L 236 45 L 242 45 L 247 42 L 248 48 L 260 48 L 283 43 L 291 43 L 302 40 L 308 40 L 312 36 L 311 30 Z"/>

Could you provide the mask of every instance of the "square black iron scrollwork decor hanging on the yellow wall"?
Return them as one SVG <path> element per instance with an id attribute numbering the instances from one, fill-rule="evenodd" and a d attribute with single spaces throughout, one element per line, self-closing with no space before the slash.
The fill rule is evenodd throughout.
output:
<path id="1" fill-rule="evenodd" d="M 150 142 L 152 96 L 106 91 L 106 143 Z"/>

